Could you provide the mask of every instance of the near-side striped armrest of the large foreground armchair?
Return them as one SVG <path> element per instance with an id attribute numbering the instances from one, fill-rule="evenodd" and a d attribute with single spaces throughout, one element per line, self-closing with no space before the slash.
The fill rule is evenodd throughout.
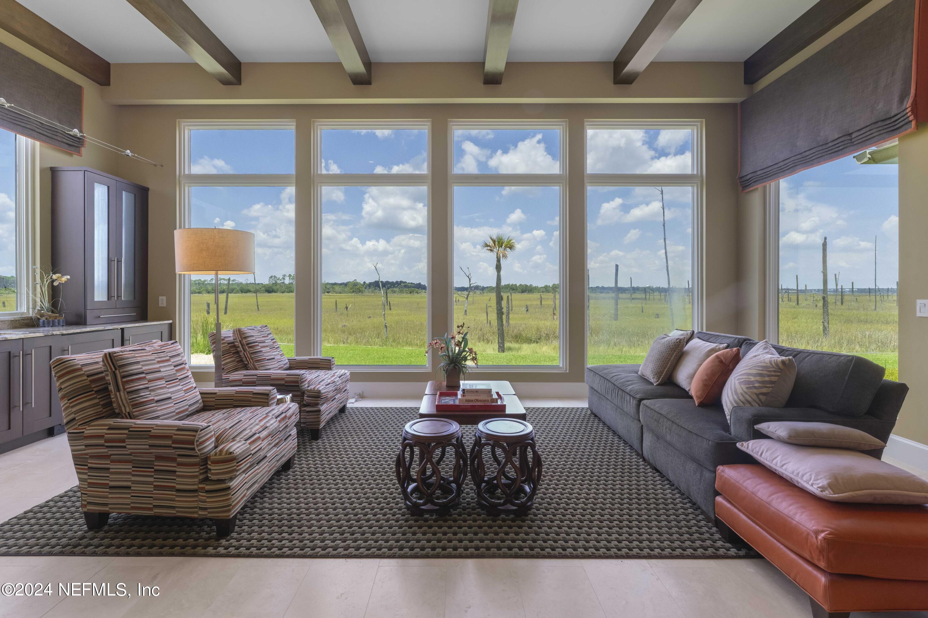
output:
<path id="1" fill-rule="evenodd" d="M 207 456 L 216 448 L 213 427 L 187 421 L 99 419 L 84 427 L 82 442 L 88 454 L 166 452 Z"/>

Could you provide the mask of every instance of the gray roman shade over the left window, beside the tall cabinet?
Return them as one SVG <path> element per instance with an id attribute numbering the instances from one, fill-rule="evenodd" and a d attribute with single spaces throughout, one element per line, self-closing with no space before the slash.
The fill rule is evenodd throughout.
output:
<path id="1" fill-rule="evenodd" d="M 70 129 L 84 131 L 84 88 L 0 44 L 0 97 Z M 81 154 L 84 138 L 0 107 L 0 127 Z"/>

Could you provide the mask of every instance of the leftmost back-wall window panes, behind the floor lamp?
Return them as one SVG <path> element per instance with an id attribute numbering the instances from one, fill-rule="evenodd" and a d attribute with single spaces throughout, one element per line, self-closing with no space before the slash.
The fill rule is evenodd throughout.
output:
<path id="1" fill-rule="evenodd" d="M 183 227 L 254 233 L 253 275 L 223 277 L 219 307 L 213 277 L 184 277 L 181 323 L 191 365 L 212 365 L 209 334 L 218 311 L 224 329 L 267 324 L 295 353 L 294 130 L 291 122 L 182 123 Z M 183 332 L 183 331 L 182 331 Z"/>

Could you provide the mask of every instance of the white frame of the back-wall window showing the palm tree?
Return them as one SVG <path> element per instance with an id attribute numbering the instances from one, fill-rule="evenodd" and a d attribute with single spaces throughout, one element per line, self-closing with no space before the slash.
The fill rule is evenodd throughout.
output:
<path id="1" fill-rule="evenodd" d="M 561 171 L 556 174 L 464 174 L 455 171 L 455 131 L 473 129 L 495 129 L 496 131 L 552 131 L 560 132 L 558 162 Z M 481 372 L 567 372 L 567 325 L 569 322 L 570 303 L 564 302 L 568 286 L 568 232 L 567 191 L 567 120 L 448 120 L 448 322 L 455 323 L 455 188 L 458 186 L 556 186 L 560 191 L 558 208 L 558 236 L 561 241 L 558 256 L 559 288 L 558 296 L 561 311 L 558 316 L 558 364 L 557 365 L 483 365 L 471 369 L 468 373 Z"/>

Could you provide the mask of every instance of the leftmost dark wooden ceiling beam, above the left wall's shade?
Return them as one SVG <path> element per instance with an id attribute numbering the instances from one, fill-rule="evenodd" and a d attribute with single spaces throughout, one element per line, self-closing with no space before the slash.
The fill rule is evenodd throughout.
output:
<path id="1" fill-rule="evenodd" d="M 0 28 L 91 82 L 110 85 L 110 63 L 15 0 L 0 0 Z"/>

